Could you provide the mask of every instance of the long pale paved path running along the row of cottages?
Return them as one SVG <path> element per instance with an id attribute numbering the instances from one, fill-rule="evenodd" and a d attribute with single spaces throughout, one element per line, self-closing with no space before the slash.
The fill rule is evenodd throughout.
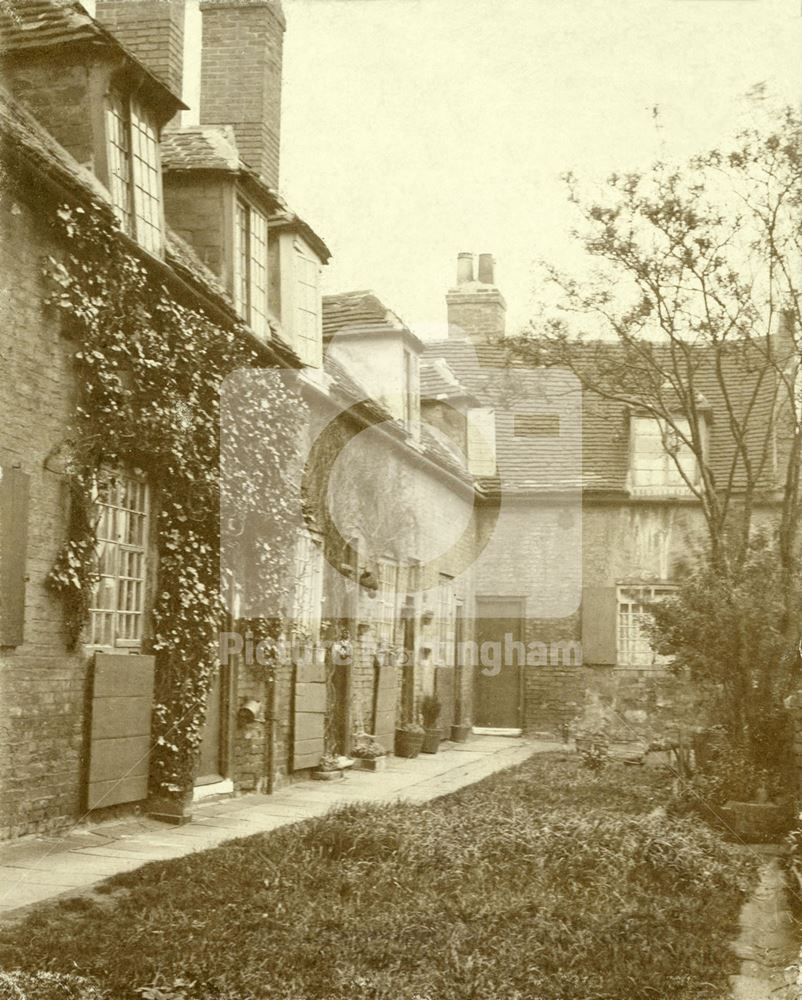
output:
<path id="1" fill-rule="evenodd" d="M 16 918 L 43 900 L 85 892 L 97 882 L 149 861 L 182 857 L 320 816 L 345 802 L 425 802 L 471 785 L 559 743 L 475 736 L 445 743 L 415 760 L 390 757 L 387 770 L 348 770 L 340 781 L 304 781 L 273 795 L 199 802 L 193 821 L 169 826 L 147 817 L 73 828 L 61 836 L 25 837 L 0 845 L 0 919 Z"/>

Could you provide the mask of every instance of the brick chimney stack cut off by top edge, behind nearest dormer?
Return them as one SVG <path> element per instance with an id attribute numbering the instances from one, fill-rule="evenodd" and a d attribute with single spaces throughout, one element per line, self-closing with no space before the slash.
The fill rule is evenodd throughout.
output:
<path id="1" fill-rule="evenodd" d="M 97 0 L 95 17 L 174 94 L 182 96 L 184 0 Z"/>

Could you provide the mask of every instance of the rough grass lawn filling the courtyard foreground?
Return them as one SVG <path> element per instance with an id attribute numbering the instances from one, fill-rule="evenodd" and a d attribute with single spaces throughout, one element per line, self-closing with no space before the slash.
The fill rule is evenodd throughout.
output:
<path id="1" fill-rule="evenodd" d="M 720 1000 L 753 865 L 655 812 L 669 792 L 537 756 L 117 876 L 0 931 L 0 967 L 111 1000 Z"/>

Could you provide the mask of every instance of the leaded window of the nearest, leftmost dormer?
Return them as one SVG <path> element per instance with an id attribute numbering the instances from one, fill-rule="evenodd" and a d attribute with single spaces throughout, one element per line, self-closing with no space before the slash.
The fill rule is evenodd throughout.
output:
<path id="1" fill-rule="evenodd" d="M 112 93 L 106 105 L 109 189 L 123 230 L 153 254 L 162 250 L 159 133 L 134 98 Z"/>

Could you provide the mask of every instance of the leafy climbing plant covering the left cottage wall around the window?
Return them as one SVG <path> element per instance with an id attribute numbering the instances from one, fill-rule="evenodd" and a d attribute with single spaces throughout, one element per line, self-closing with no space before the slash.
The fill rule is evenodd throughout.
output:
<path id="1" fill-rule="evenodd" d="M 147 640 L 157 659 L 152 786 L 179 796 L 192 784 L 206 693 L 219 667 L 226 573 L 233 584 L 229 550 L 221 587 L 221 508 L 224 540 L 235 538 L 235 549 L 247 544 L 250 594 L 279 607 L 296 520 L 285 477 L 305 407 L 279 372 L 257 371 L 259 353 L 244 328 L 215 323 L 156 280 L 102 207 L 62 206 L 54 225 L 64 252 L 47 262 L 50 302 L 76 341 L 79 388 L 69 537 L 50 584 L 63 597 L 77 645 L 97 580 L 94 500 L 102 470 L 142 470 L 158 551 Z M 243 378 L 243 369 L 256 377 Z M 232 385 L 236 419 L 227 421 L 221 477 L 220 400 Z M 264 637 L 275 635 L 274 620 L 261 627 Z"/>

